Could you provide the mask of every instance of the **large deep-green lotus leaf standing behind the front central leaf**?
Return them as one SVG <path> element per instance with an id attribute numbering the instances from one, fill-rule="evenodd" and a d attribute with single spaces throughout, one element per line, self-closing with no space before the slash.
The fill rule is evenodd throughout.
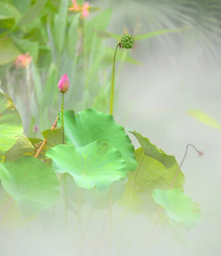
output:
<path id="1" fill-rule="evenodd" d="M 61 113 L 59 113 L 61 118 Z M 61 119 L 58 125 L 61 126 Z M 65 142 L 81 148 L 95 140 L 103 140 L 122 154 L 126 171 L 136 169 L 134 146 L 131 144 L 124 128 L 115 123 L 111 114 L 88 108 L 78 112 L 64 111 Z"/>

